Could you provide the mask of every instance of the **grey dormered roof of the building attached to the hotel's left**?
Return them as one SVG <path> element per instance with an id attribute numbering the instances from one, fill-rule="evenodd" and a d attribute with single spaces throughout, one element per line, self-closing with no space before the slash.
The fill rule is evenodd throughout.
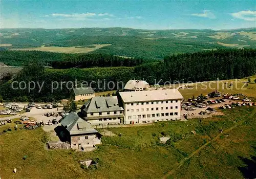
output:
<path id="1" fill-rule="evenodd" d="M 93 97 L 89 102 L 84 103 L 82 109 L 87 113 L 123 110 L 118 103 L 117 96 Z"/>

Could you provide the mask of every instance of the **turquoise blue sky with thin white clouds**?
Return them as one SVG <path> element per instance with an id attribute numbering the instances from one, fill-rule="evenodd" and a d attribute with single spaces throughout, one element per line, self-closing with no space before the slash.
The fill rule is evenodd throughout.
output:
<path id="1" fill-rule="evenodd" d="M 256 27 L 251 0 L 0 0 L 0 28 L 238 29 Z"/>

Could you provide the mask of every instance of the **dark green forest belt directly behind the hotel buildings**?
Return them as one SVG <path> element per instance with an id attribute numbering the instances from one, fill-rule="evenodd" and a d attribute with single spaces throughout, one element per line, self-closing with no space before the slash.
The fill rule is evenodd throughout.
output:
<path id="1" fill-rule="evenodd" d="M 100 55 L 99 55 L 100 57 Z M 65 83 L 51 91 L 52 82 L 86 81 L 91 83 L 96 92 L 119 89 L 122 83 L 129 79 L 144 79 L 150 84 L 162 79 L 164 81 L 206 81 L 221 79 L 236 79 L 256 74 L 256 50 L 217 50 L 198 53 L 187 53 L 165 57 L 163 61 L 139 64 L 137 66 L 108 67 L 108 68 L 71 68 L 45 69 L 44 62 L 35 60 L 25 65 L 14 79 L 2 81 L 0 96 L 4 100 L 15 101 L 57 101 L 70 96 L 72 85 Z M 98 63 L 99 64 L 99 63 Z M 99 64 L 100 65 L 100 64 Z M 98 80 L 101 83 L 96 83 Z M 40 85 L 44 82 L 41 91 L 36 84 L 35 88 L 12 89 L 12 81 L 36 81 Z M 113 83 L 108 86 L 108 82 Z M 106 85 L 104 85 L 104 83 Z M 118 86 L 118 87 L 117 87 Z M 17 87 L 17 84 L 16 86 Z"/>

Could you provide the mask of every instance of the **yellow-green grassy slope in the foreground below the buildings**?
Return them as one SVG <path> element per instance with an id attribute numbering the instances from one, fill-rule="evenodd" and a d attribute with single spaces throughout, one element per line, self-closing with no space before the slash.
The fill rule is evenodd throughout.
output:
<path id="1" fill-rule="evenodd" d="M 45 150 L 40 141 L 44 135 L 42 129 L 8 132 L 0 135 L 0 175 L 12 178 L 12 170 L 16 167 L 17 178 L 159 178 L 218 135 L 221 127 L 226 130 L 239 121 L 248 120 L 230 131 L 229 136 L 209 144 L 170 176 L 242 178 L 237 168 L 242 163 L 237 156 L 254 154 L 250 146 L 256 145 L 256 122 L 252 120 L 256 117 L 255 111 L 255 107 L 225 110 L 226 116 L 206 119 L 201 123 L 190 120 L 111 128 L 115 133 L 122 133 L 122 137 L 104 137 L 103 144 L 90 153 Z M 3 127 L 8 126 L 1 126 L 0 130 Z M 191 130 L 196 130 L 197 135 L 192 135 Z M 177 139 L 173 146 L 157 144 L 163 131 Z M 28 155 L 26 161 L 22 160 L 24 155 Z M 99 159 L 98 169 L 81 169 L 77 161 L 91 156 Z"/>

